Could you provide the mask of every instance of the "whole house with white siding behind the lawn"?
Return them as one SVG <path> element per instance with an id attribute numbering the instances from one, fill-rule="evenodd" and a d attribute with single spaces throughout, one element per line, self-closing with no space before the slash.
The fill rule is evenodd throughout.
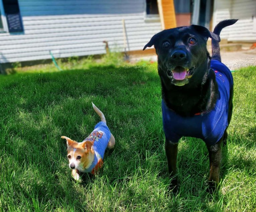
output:
<path id="1" fill-rule="evenodd" d="M 141 50 L 162 29 L 210 29 L 239 18 L 221 36 L 256 40 L 255 0 L 0 0 L 0 63 Z"/>

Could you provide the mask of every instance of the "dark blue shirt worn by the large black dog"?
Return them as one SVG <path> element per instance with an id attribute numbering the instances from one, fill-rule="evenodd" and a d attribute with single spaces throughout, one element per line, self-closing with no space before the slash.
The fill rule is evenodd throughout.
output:
<path id="1" fill-rule="evenodd" d="M 207 145 L 216 144 L 228 127 L 230 87 L 233 76 L 229 68 L 218 60 L 211 61 L 219 87 L 215 107 L 205 114 L 181 117 L 166 107 L 162 100 L 163 129 L 167 140 L 177 143 L 182 136 L 200 138 Z"/>

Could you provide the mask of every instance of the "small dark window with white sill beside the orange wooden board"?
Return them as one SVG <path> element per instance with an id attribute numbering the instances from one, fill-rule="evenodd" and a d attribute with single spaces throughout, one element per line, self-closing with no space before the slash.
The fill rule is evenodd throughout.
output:
<path id="1" fill-rule="evenodd" d="M 157 0 L 145 0 L 146 12 L 145 20 L 146 21 L 160 21 Z"/>

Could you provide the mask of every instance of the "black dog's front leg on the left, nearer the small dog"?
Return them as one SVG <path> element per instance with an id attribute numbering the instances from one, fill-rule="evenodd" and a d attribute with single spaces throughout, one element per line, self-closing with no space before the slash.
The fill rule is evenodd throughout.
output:
<path id="1" fill-rule="evenodd" d="M 165 154 L 168 164 L 169 177 L 172 178 L 171 188 L 177 189 L 176 164 L 177 164 L 178 143 L 172 143 L 165 139 Z"/>

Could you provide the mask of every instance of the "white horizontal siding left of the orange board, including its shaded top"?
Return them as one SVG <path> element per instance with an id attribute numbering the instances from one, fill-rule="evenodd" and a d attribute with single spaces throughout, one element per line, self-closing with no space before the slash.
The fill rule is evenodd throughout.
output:
<path id="1" fill-rule="evenodd" d="M 161 31 L 145 22 L 145 0 L 19 0 L 24 34 L 0 34 L 0 62 L 50 59 L 124 50 L 125 20 L 129 49 L 141 50 Z"/>

